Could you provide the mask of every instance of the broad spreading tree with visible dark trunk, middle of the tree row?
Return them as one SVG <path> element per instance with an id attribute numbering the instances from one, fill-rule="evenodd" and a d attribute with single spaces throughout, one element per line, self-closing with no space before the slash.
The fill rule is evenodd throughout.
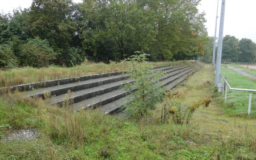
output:
<path id="1" fill-rule="evenodd" d="M 154 39 L 153 23 L 143 15 L 143 8 L 136 0 L 88 0 L 83 3 L 83 10 L 90 26 L 83 33 L 85 43 L 114 42 L 113 50 L 119 52 L 119 59 L 134 49 L 147 50 Z"/>

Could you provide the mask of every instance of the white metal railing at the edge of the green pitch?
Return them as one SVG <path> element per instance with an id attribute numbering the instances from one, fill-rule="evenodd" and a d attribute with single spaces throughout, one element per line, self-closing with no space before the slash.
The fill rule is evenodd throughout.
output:
<path id="1" fill-rule="evenodd" d="M 224 78 L 222 74 L 220 74 L 220 75 L 221 75 L 221 79 L 223 80 L 223 89 L 224 89 L 224 86 L 225 86 L 225 103 L 227 101 L 227 91 L 228 91 L 228 88 L 230 90 L 241 90 L 241 91 L 248 91 L 248 92 L 250 92 L 249 104 L 248 104 L 248 115 L 250 115 L 250 113 L 251 113 L 251 104 L 252 104 L 252 92 L 256 92 L 256 90 L 231 88 L 231 86 L 228 84 L 228 81 L 226 80 L 226 78 Z M 220 81 L 221 81 L 221 79 L 220 79 Z M 224 90 L 223 89 L 222 89 L 222 94 L 224 94 Z"/>

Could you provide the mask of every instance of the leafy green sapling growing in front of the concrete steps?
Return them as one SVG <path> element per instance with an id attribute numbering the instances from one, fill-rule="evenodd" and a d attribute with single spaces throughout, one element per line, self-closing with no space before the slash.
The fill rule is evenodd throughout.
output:
<path id="1" fill-rule="evenodd" d="M 126 83 L 124 88 L 133 98 L 126 104 L 126 113 L 129 117 L 139 119 L 144 117 L 149 109 L 155 109 L 155 104 L 163 98 L 165 90 L 160 87 L 159 78 L 164 73 L 161 70 L 153 70 L 153 66 L 146 62 L 147 54 L 139 51 L 135 53 L 139 55 L 132 55 L 126 59 L 129 64 L 126 72 L 134 82 Z"/>

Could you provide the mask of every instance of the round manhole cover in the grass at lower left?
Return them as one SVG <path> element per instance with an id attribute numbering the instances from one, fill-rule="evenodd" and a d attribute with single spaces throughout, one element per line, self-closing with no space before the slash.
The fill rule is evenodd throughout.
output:
<path id="1" fill-rule="evenodd" d="M 3 137 L 3 140 L 31 140 L 39 135 L 40 133 L 36 129 L 18 129 Z"/>

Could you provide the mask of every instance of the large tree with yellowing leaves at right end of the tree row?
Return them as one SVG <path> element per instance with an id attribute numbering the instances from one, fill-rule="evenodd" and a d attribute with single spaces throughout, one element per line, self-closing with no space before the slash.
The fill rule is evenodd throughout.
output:
<path id="1" fill-rule="evenodd" d="M 154 59 L 170 60 L 177 53 L 192 56 L 205 45 L 207 36 L 203 26 L 204 13 L 199 13 L 200 0 L 142 0 L 141 5 L 150 12 L 157 35 L 150 45 Z M 177 57 L 177 56 L 176 56 Z"/>

